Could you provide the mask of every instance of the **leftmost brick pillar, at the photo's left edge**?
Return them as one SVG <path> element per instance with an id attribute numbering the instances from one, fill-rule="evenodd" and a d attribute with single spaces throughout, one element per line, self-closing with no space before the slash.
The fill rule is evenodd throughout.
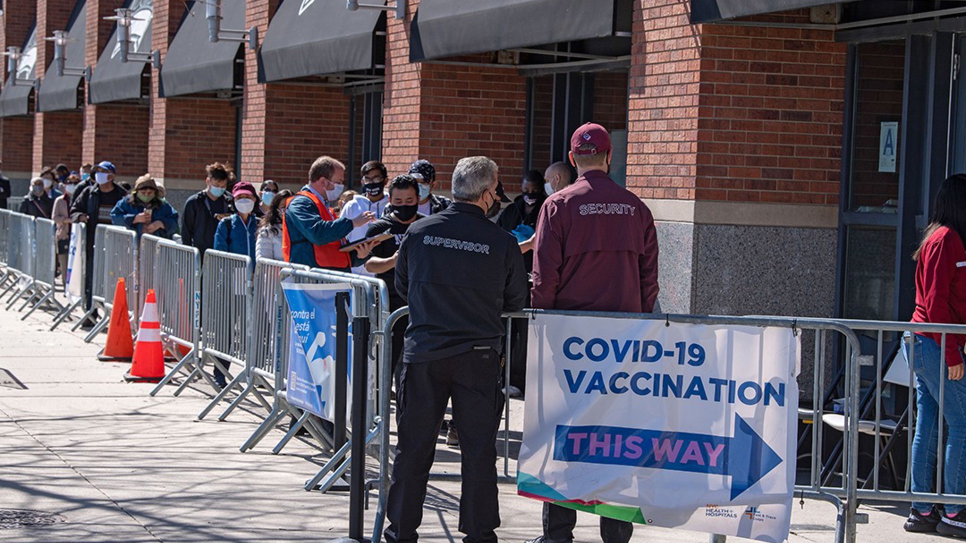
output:
<path id="1" fill-rule="evenodd" d="M 36 0 L 8 0 L 4 3 L 3 47 L 22 47 L 30 36 L 37 15 Z M 6 57 L 3 61 L 7 80 Z M 0 157 L 9 175 L 29 176 L 33 167 L 34 120 L 30 117 L 8 117 L 0 120 Z"/>

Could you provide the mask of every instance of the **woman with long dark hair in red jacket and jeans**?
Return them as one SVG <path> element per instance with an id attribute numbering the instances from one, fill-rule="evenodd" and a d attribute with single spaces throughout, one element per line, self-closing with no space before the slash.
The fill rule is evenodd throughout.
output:
<path id="1" fill-rule="evenodd" d="M 939 187 L 932 220 L 916 260 L 916 310 L 913 323 L 966 324 L 966 174 L 955 174 Z M 943 418 L 949 426 L 943 469 L 943 493 L 966 494 L 966 382 L 963 345 L 966 335 L 906 332 L 902 354 L 916 374 L 916 434 L 912 443 L 912 491 L 933 492 L 939 428 L 939 397 L 943 390 Z M 910 357 L 910 349 L 913 350 Z M 942 362 L 946 363 L 943 364 Z M 943 381 L 946 381 L 943 384 Z M 938 531 L 966 537 L 962 504 L 942 506 L 913 501 L 907 531 Z"/>

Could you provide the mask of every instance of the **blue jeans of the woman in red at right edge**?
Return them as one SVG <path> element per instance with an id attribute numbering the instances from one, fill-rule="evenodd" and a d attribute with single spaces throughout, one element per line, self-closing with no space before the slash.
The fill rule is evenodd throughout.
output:
<path id="1" fill-rule="evenodd" d="M 909 361 L 909 332 L 902 339 L 902 355 Z M 943 461 L 943 494 L 966 491 L 966 380 L 947 379 L 942 351 L 931 338 L 912 334 L 915 357 L 910 367 L 916 374 L 916 435 L 912 442 L 912 491 L 931 493 L 936 472 L 939 436 L 939 386 L 945 381 L 943 418 L 949 431 L 944 435 L 946 458 Z M 947 339 L 949 341 L 949 339 Z M 961 354 L 960 354 L 961 356 Z M 914 509 L 928 513 L 931 503 L 913 501 Z M 946 514 L 955 515 L 963 505 L 946 504 Z"/>

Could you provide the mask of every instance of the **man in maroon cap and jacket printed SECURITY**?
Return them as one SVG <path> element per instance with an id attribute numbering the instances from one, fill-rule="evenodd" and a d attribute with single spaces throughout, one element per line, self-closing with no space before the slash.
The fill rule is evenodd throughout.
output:
<path id="1" fill-rule="evenodd" d="M 538 309 L 649 313 L 658 298 L 658 239 L 654 217 L 607 172 L 611 136 L 587 123 L 570 138 L 579 178 L 554 192 L 540 210 L 533 244 Z M 527 543 L 570 543 L 577 511 L 544 503 L 543 535 Z M 627 543 L 631 523 L 601 517 L 604 543 Z"/>

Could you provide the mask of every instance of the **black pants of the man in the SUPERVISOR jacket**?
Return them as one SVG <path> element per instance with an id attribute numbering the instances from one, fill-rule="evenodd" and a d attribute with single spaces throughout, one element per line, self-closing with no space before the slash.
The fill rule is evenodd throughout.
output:
<path id="1" fill-rule="evenodd" d="M 392 469 L 386 517 L 389 543 L 418 539 L 426 484 L 436 453 L 442 415 L 452 398 L 460 420 L 463 486 L 461 532 L 466 543 L 496 543 L 497 425 L 499 422 L 499 357 L 492 349 L 472 351 L 403 367 L 399 442 Z"/>

